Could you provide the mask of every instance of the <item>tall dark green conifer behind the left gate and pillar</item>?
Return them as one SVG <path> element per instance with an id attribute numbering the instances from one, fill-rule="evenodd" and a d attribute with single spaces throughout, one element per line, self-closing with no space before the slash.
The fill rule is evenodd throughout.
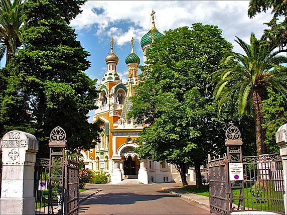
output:
<path id="1" fill-rule="evenodd" d="M 94 110 L 96 80 L 89 68 L 88 52 L 76 40 L 70 21 L 84 2 L 27 1 L 23 4 L 24 48 L 5 68 L 7 87 L 1 101 L 2 135 L 11 129 L 29 130 L 39 142 L 39 156 L 49 153 L 50 132 L 57 126 L 67 134 L 70 150 L 93 148 L 96 124 L 88 123 Z"/>

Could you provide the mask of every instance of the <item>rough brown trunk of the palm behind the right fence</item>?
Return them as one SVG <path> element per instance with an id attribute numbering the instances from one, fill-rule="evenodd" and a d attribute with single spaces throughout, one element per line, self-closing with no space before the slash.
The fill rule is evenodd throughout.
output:
<path id="1" fill-rule="evenodd" d="M 258 86 L 254 87 L 252 92 L 252 112 L 255 120 L 257 155 L 267 153 L 266 144 L 264 143 L 265 130 L 262 128 L 262 124 L 265 123 L 262 112 L 262 100 L 263 88 Z"/>

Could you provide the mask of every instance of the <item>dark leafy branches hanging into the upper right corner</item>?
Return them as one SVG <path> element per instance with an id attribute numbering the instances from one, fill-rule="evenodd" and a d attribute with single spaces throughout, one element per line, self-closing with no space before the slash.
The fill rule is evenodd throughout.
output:
<path id="1" fill-rule="evenodd" d="M 286 0 L 250 0 L 248 16 L 253 18 L 257 13 L 266 12 L 271 9 L 273 18 L 266 24 L 269 29 L 265 29 L 264 33 L 269 38 L 265 40 L 264 45 L 270 45 L 270 42 L 276 44 L 277 47 L 286 47 L 287 43 L 287 8 Z"/>

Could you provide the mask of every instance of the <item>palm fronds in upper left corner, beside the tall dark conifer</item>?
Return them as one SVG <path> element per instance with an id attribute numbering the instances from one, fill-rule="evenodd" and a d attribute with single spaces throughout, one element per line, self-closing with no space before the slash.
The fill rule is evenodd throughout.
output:
<path id="1" fill-rule="evenodd" d="M 18 52 L 22 45 L 20 41 L 22 25 L 21 21 L 21 0 L 1 0 L 0 2 L 0 60 L 6 53 L 6 65 L 9 63 L 12 54 Z"/>

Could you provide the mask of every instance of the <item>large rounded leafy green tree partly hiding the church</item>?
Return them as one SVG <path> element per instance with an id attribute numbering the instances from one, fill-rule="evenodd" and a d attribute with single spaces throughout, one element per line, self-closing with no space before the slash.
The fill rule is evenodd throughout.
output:
<path id="1" fill-rule="evenodd" d="M 224 146 L 224 126 L 216 120 L 209 75 L 232 45 L 217 26 L 193 24 L 165 32 L 147 51 L 141 82 L 132 98 L 130 116 L 148 126 L 136 140 L 141 158 L 167 160 L 188 185 L 186 170 L 194 165 L 201 185 L 200 165 L 207 154 Z M 222 139 L 221 139 L 222 138 Z"/>

